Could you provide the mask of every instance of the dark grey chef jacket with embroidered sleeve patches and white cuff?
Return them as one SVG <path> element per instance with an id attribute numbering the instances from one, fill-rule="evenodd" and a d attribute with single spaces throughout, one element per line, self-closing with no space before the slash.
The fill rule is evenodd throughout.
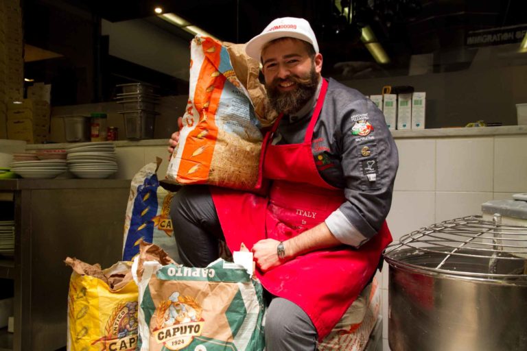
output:
<path id="1" fill-rule="evenodd" d="M 274 145 L 303 143 L 321 83 L 295 116 L 281 119 Z M 320 176 L 344 189 L 347 200 L 325 223 L 339 241 L 359 247 L 377 234 L 388 215 L 399 166 L 384 115 L 358 90 L 329 79 L 312 150 Z"/>

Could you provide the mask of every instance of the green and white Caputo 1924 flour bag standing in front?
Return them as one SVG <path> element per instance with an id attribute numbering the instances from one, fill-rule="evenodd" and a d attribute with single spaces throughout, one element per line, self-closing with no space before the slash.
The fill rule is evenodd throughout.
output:
<path id="1" fill-rule="evenodd" d="M 141 243 L 138 350 L 264 350 L 261 284 L 246 269 L 218 259 L 206 268 L 170 263 Z"/>

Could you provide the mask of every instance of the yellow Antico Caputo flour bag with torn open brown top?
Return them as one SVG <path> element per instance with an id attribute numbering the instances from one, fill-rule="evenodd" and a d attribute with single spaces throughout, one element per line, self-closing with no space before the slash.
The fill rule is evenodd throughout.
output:
<path id="1" fill-rule="evenodd" d="M 108 269 L 66 258 L 68 351 L 132 351 L 137 346 L 137 285 L 130 262 Z"/>

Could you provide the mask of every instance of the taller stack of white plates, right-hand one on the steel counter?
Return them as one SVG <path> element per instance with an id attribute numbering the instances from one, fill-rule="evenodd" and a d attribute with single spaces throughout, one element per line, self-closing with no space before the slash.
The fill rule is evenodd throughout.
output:
<path id="1" fill-rule="evenodd" d="M 78 143 L 67 149 L 68 169 L 78 178 L 107 178 L 117 172 L 112 141 Z"/>

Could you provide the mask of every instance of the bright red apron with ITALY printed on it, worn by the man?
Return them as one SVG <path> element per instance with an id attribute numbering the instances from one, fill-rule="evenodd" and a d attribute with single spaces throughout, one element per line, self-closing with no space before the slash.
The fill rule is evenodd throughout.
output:
<path id="1" fill-rule="evenodd" d="M 326 90 L 323 80 L 303 143 L 270 145 L 279 120 L 264 138 L 263 175 L 272 180 L 268 197 L 211 188 L 231 251 L 239 250 L 242 242 L 250 249 L 261 239 L 285 241 L 322 223 L 345 201 L 342 189 L 320 177 L 312 153 L 313 130 Z M 341 245 L 309 252 L 256 275 L 270 293 L 300 306 L 322 340 L 371 279 L 382 250 L 391 241 L 384 222 L 379 233 L 359 250 Z"/>

